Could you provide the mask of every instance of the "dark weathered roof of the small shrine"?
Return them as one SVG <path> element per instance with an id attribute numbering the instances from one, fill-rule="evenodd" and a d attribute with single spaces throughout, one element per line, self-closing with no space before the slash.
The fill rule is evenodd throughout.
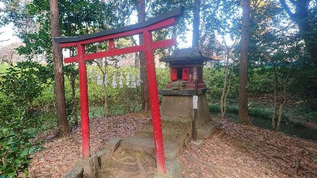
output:
<path id="1" fill-rule="evenodd" d="M 202 51 L 198 48 L 182 48 L 175 49 L 172 55 L 168 55 L 159 59 L 161 62 L 180 61 L 180 60 L 202 60 L 211 61 L 210 57 L 204 56 Z"/>

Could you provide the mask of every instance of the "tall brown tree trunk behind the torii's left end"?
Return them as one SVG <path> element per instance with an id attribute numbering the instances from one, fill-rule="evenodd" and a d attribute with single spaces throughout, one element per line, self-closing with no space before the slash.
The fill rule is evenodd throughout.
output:
<path id="1" fill-rule="evenodd" d="M 55 100 L 57 114 L 58 135 L 70 133 L 69 123 L 66 117 L 65 88 L 64 88 L 64 72 L 63 72 L 63 55 L 62 50 L 53 40 L 60 36 L 59 31 L 59 13 L 58 0 L 50 0 L 51 12 L 51 33 L 53 44 L 53 68 L 55 80 Z"/>

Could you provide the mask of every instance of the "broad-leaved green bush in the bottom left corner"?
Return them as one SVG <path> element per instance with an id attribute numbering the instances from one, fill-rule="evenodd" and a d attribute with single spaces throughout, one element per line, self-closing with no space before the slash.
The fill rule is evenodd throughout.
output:
<path id="1" fill-rule="evenodd" d="M 41 148 L 30 142 L 34 136 L 25 132 L 23 118 L 13 119 L 2 125 L 0 131 L 0 178 L 14 178 L 23 172 L 28 175 L 30 155 Z"/>

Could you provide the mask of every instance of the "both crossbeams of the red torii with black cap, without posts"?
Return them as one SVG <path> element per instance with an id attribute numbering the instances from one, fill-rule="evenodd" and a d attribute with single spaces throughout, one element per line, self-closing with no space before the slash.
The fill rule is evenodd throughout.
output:
<path id="1" fill-rule="evenodd" d="M 77 36 L 77 37 L 58 37 L 54 38 L 54 41 L 59 44 L 60 47 L 71 47 L 77 45 L 87 45 L 92 43 L 99 43 L 108 40 L 109 44 L 113 44 L 113 39 L 123 38 L 127 36 L 133 36 L 142 34 L 145 31 L 156 31 L 172 24 L 176 23 L 178 17 L 183 15 L 183 7 L 177 7 L 173 10 L 167 11 L 159 16 L 149 19 L 143 23 L 128 25 L 124 27 L 119 27 L 112 30 L 106 30 L 102 32 L 97 32 L 93 34 Z M 160 47 L 167 47 L 171 45 L 176 45 L 176 39 L 162 40 L 158 42 L 153 42 L 153 49 Z M 110 46 L 110 45 L 109 45 Z M 110 46 L 111 47 L 111 46 Z M 85 54 L 84 60 L 92 60 L 96 58 L 108 57 L 113 55 L 120 55 L 126 53 L 133 53 L 138 51 L 143 51 L 145 46 L 136 45 L 125 48 L 115 49 L 110 48 L 108 51 L 95 52 L 91 54 Z M 78 62 L 78 56 L 67 57 L 64 59 L 65 63 Z"/>

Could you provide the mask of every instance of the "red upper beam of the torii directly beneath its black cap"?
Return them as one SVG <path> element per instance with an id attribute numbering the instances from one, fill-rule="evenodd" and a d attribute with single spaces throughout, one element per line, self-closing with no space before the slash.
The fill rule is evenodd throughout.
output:
<path id="1" fill-rule="evenodd" d="M 121 33 L 97 37 L 97 38 L 92 38 L 92 39 L 83 40 L 80 42 L 61 43 L 61 44 L 59 44 L 59 46 L 60 47 L 70 47 L 70 46 L 75 46 L 75 45 L 84 45 L 84 44 L 103 42 L 103 41 L 106 41 L 109 39 L 117 39 L 117 38 L 123 38 L 123 37 L 127 37 L 127 36 L 133 36 L 133 35 L 141 34 L 145 30 L 146 31 L 159 30 L 159 29 L 168 27 L 168 26 L 174 24 L 175 22 L 176 22 L 175 18 L 172 17 L 172 18 L 165 19 L 163 21 L 160 21 L 156 24 L 150 25 L 150 26 L 145 27 L 145 28 L 140 28 L 140 29 L 136 29 L 136 30 L 121 32 Z"/>

